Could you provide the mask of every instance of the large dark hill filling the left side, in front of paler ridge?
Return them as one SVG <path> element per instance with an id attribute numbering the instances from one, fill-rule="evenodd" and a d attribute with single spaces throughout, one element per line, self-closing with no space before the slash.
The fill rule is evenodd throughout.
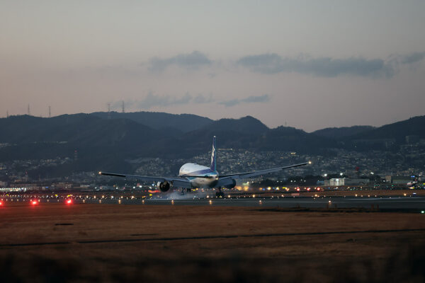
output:
<path id="1" fill-rule="evenodd" d="M 86 114 L 12 116 L 0 119 L 0 132 L 0 142 L 11 144 L 0 149 L 0 161 L 74 158 L 77 150 L 81 170 L 102 164 L 117 168 L 129 156 L 159 154 L 162 149 L 158 146 L 169 140 L 132 120 L 104 120 Z"/>

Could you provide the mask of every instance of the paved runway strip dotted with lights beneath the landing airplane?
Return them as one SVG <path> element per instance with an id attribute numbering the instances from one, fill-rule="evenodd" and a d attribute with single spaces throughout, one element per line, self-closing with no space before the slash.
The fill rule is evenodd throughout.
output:
<path id="1" fill-rule="evenodd" d="M 66 195 L 39 195 L 32 198 L 28 195 L 6 197 L 8 202 L 26 204 L 30 200 L 38 203 L 64 203 Z M 3 199 L 1 199 L 3 200 Z M 364 208 L 364 209 L 419 209 L 425 210 L 423 195 L 399 196 L 290 196 L 290 195 L 234 195 L 232 197 L 200 197 L 197 194 L 157 195 L 153 197 L 116 196 L 113 195 L 85 195 L 72 196 L 73 204 L 126 204 L 126 205 L 187 205 L 187 206 L 219 206 L 219 207 L 278 207 L 278 208 Z"/>

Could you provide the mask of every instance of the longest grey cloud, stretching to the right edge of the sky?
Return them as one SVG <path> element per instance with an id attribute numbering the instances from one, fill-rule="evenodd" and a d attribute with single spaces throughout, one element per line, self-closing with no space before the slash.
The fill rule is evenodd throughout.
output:
<path id="1" fill-rule="evenodd" d="M 294 72 L 314 76 L 334 77 L 340 75 L 391 77 L 397 72 L 398 65 L 419 62 L 425 52 L 398 56 L 390 61 L 383 59 L 364 59 L 351 57 L 334 59 L 331 57 L 280 57 L 278 54 L 258 54 L 242 57 L 237 64 L 261 74 Z"/>

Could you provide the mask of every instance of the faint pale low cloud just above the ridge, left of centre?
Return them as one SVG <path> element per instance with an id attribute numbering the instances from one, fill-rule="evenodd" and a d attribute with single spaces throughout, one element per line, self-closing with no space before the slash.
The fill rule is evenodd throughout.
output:
<path id="1" fill-rule="evenodd" d="M 214 99 L 212 96 L 203 96 L 198 94 L 198 96 L 191 96 L 191 94 L 186 93 L 183 96 L 157 96 L 152 92 L 149 92 L 147 96 L 141 100 L 126 100 L 125 108 L 127 109 L 150 109 L 156 106 L 166 107 L 170 105 L 179 105 L 179 104 L 188 104 L 188 103 L 212 103 Z M 112 109 L 120 109 L 122 106 L 122 101 L 116 101 L 112 104 Z"/>

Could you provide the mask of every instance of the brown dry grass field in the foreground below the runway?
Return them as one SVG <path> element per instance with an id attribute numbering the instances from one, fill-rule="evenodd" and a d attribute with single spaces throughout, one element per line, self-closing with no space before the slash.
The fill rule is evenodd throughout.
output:
<path id="1" fill-rule="evenodd" d="M 47 203 L 0 214 L 4 282 L 425 279 L 424 214 Z"/>

